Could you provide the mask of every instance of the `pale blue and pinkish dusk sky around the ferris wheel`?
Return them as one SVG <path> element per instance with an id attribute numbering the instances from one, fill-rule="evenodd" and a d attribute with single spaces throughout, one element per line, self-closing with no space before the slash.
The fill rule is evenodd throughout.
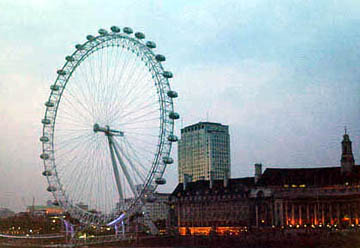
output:
<path id="1" fill-rule="evenodd" d="M 344 126 L 360 164 L 360 2 L 171 0 L 0 2 L 0 207 L 46 191 L 41 119 L 56 70 L 99 28 L 129 26 L 157 43 L 174 73 L 176 132 L 229 125 L 231 176 L 339 166 Z M 177 154 L 166 186 L 177 185 Z"/>

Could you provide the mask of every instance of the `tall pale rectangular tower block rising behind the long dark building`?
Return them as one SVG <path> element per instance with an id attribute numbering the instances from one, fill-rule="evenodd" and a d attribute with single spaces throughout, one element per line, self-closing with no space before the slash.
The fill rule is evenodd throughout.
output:
<path id="1" fill-rule="evenodd" d="M 199 122 L 181 129 L 179 183 L 230 177 L 229 126 Z"/>

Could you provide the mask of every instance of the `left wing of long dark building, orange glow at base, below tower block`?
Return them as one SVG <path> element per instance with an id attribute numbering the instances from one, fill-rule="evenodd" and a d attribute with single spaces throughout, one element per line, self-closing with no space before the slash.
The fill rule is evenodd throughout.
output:
<path id="1" fill-rule="evenodd" d="M 253 186 L 253 177 L 180 183 L 170 196 L 171 225 L 180 234 L 187 228 L 192 234 L 221 232 L 221 228 L 239 232 L 251 225 Z"/>

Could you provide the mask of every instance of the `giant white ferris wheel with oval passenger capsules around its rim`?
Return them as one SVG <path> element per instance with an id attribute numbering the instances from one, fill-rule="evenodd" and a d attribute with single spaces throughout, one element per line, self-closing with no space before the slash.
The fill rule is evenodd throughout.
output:
<path id="1" fill-rule="evenodd" d="M 50 86 L 40 158 L 59 205 L 84 223 L 106 224 L 166 183 L 179 114 L 156 44 L 129 27 L 98 33 L 75 46 Z"/>

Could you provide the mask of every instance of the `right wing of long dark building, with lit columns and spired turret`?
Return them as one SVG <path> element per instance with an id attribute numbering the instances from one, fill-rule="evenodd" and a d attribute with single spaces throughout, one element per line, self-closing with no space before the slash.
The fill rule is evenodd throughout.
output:
<path id="1" fill-rule="evenodd" d="M 360 166 L 344 134 L 340 167 L 267 169 L 257 183 L 255 224 L 276 226 L 358 225 Z M 266 189 L 264 194 L 262 189 Z"/>

